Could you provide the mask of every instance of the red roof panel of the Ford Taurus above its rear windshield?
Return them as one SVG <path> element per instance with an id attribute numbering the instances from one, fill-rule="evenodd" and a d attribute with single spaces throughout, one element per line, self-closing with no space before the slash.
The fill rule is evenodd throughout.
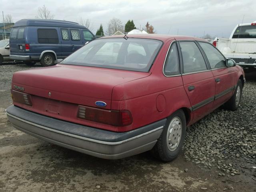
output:
<path id="1" fill-rule="evenodd" d="M 102 38 L 124 38 L 125 35 L 115 35 L 115 36 L 105 36 Z M 156 39 L 161 41 L 166 41 L 169 39 L 176 39 L 176 40 L 200 40 L 206 41 L 201 38 L 197 37 L 190 37 L 190 36 L 182 36 L 182 35 L 161 35 L 161 34 L 126 34 L 128 38 L 145 38 L 145 39 Z"/>

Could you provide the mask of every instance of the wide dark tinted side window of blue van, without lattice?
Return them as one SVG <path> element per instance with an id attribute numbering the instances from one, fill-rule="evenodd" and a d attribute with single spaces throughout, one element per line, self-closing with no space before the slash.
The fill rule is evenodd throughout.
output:
<path id="1" fill-rule="evenodd" d="M 38 43 L 59 43 L 56 29 L 38 29 Z"/>

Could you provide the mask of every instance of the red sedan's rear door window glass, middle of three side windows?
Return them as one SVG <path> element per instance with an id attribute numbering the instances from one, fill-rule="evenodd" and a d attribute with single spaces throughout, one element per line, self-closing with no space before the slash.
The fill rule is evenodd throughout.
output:
<path id="1" fill-rule="evenodd" d="M 206 70 L 206 63 L 195 42 L 180 42 L 182 53 L 183 72 Z"/>

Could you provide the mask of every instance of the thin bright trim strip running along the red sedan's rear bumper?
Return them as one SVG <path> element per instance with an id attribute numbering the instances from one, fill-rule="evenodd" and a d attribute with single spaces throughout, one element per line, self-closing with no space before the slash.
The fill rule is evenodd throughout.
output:
<path id="1" fill-rule="evenodd" d="M 162 128 L 164 128 L 164 126 L 160 126 L 154 130 L 151 130 L 151 131 L 148 131 L 148 132 L 145 132 L 145 133 L 142 133 L 140 135 L 137 135 L 137 136 L 134 136 L 132 138 L 128 138 L 126 140 L 122 140 L 122 141 L 118 141 L 118 142 L 107 142 L 107 141 L 100 141 L 100 140 L 95 140 L 95 139 L 90 139 L 90 138 L 86 138 L 86 137 L 82 137 L 82 136 L 78 136 L 78 135 L 74 135 L 74 134 L 70 134 L 70 133 L 66 133 L 66 132 L 62 132 L 62 131 L 58 131 L 58 130 L 54 130 L 54 129 L 51 129 L 51 128 L 48 128 L 48 127 L 45 127 L 45 126 L 41 126 L 41 125 L 38 125 L 38 124 L 35 124 L 35 123 L 32 123 L 32 122 L 29 122 L 27 120 L 23 120 L 21 118 L 18 118 L 12 114 L 9 114 L 8 112 L 6 112 L 6 114 L 14 119 L 17 119 L 17 120 L 20 120 L 22 122 L 25 122 L 27 124 L 30 124 L 32 126 L 36 126 L 38 128 L 42 128 L 42 129 L 45 129 L 45 130 L 48 130 L 48 131 L 51 131 L 51 132 L 56 132 L 56 133 L 59 133 L 59 134 L 62 134 L 62 135 L 66 135 L 66 136 L 70 136 L 70 137 L 73 137 L 73 138 L 78 138 L 78 139 L 81 139 L 81 140 L 86 140 L 86 141 L 90 141 L 90 142 L 94 142 L 94 143 L 99 143 L 99 144 L 105 144 L 105 145 L 118 145 L 118 144 L 123 144 L 123 143 L 126 143 L 128 141 L 131 141 L 131 140 L 135 140 L 137 138 L 140 138 L 142 136 L 145 136 L 147 134 L 150 134 L 152 132 L 156 132 Z"/>

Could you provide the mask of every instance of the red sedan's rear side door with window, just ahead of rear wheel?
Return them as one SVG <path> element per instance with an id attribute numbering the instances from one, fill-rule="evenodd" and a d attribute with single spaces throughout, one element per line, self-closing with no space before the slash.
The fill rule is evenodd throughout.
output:
<path id="1" fill-rule="evenodd" d="M 182 54 L 182 80 L 195 122 L 212 111 L 215 80 L 197 42 L 179 41 L 178 44 Z"/>

